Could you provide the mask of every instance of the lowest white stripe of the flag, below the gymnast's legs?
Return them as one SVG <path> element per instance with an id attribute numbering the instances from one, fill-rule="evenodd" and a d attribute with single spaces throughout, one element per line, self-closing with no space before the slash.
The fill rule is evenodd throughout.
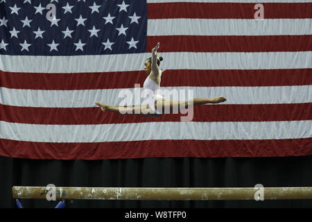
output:
<path id="1" fill-rule="evenodd" d="M 149 139 L 297 139 L 311 137 L 311 124 L 312 121 L 257 121 L 149 122 L 77 126 L 0 121 L 0 137 L 2 139 L 31 142 L 119 142 Z M 179 130 L 171 130 L 177 128 Z"/>

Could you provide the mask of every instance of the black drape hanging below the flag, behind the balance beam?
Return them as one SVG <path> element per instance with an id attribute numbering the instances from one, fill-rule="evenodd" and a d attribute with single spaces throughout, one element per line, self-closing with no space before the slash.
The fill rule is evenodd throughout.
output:
<path id="1" fill-rule="evenodd" d="M 26 160 L 0 157 L 0 207 L 15 207 L 13 185 L 64 187 L 309 187 L 312 156 Z M 21 200 L 24 207 L 56 201 Z M 312 207 L 312 200 L 73 200 L 66 207 Z"/>

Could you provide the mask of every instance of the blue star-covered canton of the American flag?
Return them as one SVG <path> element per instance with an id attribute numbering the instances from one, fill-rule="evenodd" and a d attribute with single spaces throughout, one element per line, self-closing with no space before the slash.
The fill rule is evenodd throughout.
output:
<path id="1" fill-rule="evenodd" d="M 0 53 L 74 56 L 146 51 L 146 0 L 0 0 Z"/>

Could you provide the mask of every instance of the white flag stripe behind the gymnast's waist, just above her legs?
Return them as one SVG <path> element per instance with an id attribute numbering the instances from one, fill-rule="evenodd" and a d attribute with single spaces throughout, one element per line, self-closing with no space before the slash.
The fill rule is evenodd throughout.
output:
<path id="1" fill-rule="evenodd" d="M 174 99 L 173 93 L 164 96 L 168 100 L 187 101 L 188 90 L 193 90 L 194 98 L 214 98 L 225 96 L 227 101 L 222 104 L 285 104 L 285 103 L 311 103 L 312 85 L 276 86 L 276 87 L 161 87 L 173 89 L 178 95 L 180 89 L 185 92 L 185 99 Z M 127 99 L 126 93 L 130 92 Z M 3 105 L 16 105 L 44 108 L 87 108 L 96 107 L 94 101 L 101 101 L 109 105 L 140 105 L 144 101 L 135 103 L 135 98 L 143 94 L 128 89 L 85 89 L 85 90 L 34 90 L 34 89 L 8 89 L 0 87 L 0 103 Z M 131 102 L 132 100 L 132 102 Z"/>

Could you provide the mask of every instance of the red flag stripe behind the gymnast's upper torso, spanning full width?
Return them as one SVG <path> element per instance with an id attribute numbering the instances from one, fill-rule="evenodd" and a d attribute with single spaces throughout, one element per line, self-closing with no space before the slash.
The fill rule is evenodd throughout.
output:
<path id="1" fill-rule="evenodd" d="M 166 58 L 164 58 L 166 59 Z M 312 69 L 166 70 L 162 87 L 312 85 Z M 116 78 L 118 75 L 118 78 Z M 122 81 L 121 81 L 122 79 Z M 120 89 L 143 87 L 145 71 L 82 74 L 28 74 L 0 71 L 0 86 L 12 89 Z M 40 84 L 39 84 L 40 83 Z"/>

